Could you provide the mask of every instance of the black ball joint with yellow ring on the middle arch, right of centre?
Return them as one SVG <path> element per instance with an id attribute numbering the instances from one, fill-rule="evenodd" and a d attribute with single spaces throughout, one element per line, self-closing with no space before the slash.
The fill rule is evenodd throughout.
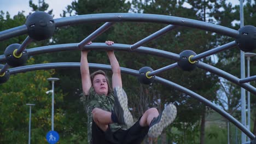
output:
<path id="1" fill-rule="evenodd" d="M 191 50 L 185 50 L 179 53 L 178 65 L 182 70 L 191 71 L 196 68 L 197 61 L 191 61 L 191 57 L 196 56 L 196 53 Z"/>

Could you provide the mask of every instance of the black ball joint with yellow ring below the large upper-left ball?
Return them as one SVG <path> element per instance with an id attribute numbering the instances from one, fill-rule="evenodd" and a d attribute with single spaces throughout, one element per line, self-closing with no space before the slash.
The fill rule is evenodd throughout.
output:
<path id="1" fill-rule="evenodd" d="M 27 62 L 28 55 L 26 49 L 20 55 L 15 54 L 19 47 L 20 44 L 11 44 L 4 51 L 5 61 L 11 67 L 19 67 Z"/>

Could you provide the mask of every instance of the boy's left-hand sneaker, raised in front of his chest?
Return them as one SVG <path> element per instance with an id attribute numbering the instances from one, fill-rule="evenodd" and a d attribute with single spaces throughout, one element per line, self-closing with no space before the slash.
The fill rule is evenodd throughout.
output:
<path id="1" fill-rule="evenodd" d="M 114 99 L 115 104 L 112 109 L 112 121 L 114 123 L 126 124 L 131 127 L 133 124 L 133 118 L 128 108 L 127 95 L 123 88 L 114 88 Z"/>

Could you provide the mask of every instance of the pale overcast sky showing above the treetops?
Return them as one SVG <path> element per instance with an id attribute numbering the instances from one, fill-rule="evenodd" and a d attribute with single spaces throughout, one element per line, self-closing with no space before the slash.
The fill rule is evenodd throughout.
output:
<path id="1" fill-rule="evenodd" d="M 54 19 L 59 18 L 62 14 L 62 10 L 66 10 L 67 5 L 70 5 L 75 0 L 45 0 L 45 3 L 49 4 L 49 8 L 53 9 Z M 77 0 L 78 1 L 78 0 Z M 103 0 L 107 1 L 107 0 Z M 128 0 L 127 0 L 128 1 Z M 229 0 L 232 4 L 239 4 L 239 0 Z M 0 0 L 0 10 L 3 10 L 4 13 L 7 11 L 13 17 L 18 14 L 18 11 L 25 11 L 25 15 L 28 15 L 32 11 L 32 8 L 29 7 L 29 0 Z M 38 5 L 38 0 L 33 0 L 34 4 Z"/>

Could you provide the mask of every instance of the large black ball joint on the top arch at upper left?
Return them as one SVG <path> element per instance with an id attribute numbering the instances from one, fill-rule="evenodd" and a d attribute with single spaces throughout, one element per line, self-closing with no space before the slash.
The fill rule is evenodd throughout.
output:
<path id="1" fill-rule="evenodd" d="M 55 31 L 53 16 L 44 11 L 36 11 L 27 17 L 28 35 L 34 40 L 49 39 Z"/>

